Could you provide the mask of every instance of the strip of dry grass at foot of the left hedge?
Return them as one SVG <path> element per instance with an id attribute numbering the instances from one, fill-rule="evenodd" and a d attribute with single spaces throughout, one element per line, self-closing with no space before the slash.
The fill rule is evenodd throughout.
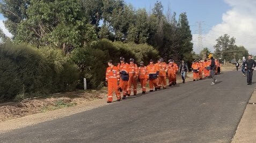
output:
<path id="1" fill-rule="evenodd" d="M 12 102 L 9 105 L 0 107 L 0 122 L 64 107 L 75 106 L 77 104 L 82 104 L 83 102 L 102 98 L 106 98 L 106 90 L 67 92 L 46 99 Z"/>

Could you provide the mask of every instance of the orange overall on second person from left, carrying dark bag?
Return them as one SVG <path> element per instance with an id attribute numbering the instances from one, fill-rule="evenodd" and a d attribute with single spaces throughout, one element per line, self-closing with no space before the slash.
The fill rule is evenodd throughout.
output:
<path id="1" fill-rule="evenodd" d="M 119 63 L 118 64 L 118 69 L 120 71 L 120 73 L 127 73 L 127 75 L 129 74 L 129 64 L 128 63 Z M 120 80 L 120 88 L 122 89 L 123 91 L 123 96 L 126 97 L 128 92 L 127 92 L 127 89 L 128 89 L 128 80 L 123 80 L 122 79 L 122 76 L 127 76 L 127 75 L 122 75 L 121 74 L 121 80 Z"/>

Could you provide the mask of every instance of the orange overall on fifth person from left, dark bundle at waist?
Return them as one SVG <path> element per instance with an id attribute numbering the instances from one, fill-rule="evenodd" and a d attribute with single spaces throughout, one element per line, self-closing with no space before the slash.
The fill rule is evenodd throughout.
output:
<path id="1" fill-rule="evenodd" d="M 147 76 L 148 76 L 148 79 L 149 79 L 149 90 L 153 90 L 154 89 L 154 86 L 155 88 L 157 88 L 157 81 L 156 81 L 156 78 L 150 78 L 149 75 L 150 74 L 157 74 L 157 71 L 158 71 L 158 67 L 154 64 L 149 64 L 147 66 Z"/>

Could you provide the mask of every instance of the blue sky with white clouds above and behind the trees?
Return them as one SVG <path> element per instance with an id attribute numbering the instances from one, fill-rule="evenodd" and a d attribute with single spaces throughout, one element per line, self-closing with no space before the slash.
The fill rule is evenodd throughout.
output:
<path id="1" fill-rule="evenodd" d="M 254 0 L 158 0 L 164 6 L 164 13 L 170 7 L 171 13 L 187 13 L 193 35 L 193 50 L 199 53 L 198 22 L 202 22 L 202 44 L 214 52 L 216 39 L 224 34 L 236 38 L 236 45 L 243 45 L 250 54 L 256 55 L 256 1 Z M 157 0 L 125 0 L 135 9 L 145 8 L 148 12 Z M 0 27 L 7 36 L 11 36 L 3 25 L 0 15 Z"/>

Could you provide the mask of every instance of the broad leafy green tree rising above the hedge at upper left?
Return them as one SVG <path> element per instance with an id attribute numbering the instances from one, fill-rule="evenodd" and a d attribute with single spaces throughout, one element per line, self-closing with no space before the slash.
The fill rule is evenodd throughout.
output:
<path id="1" fill-rule="evenodd" d="M 81 0 L 31 0 L 27 18 L 18 25 L 18 42 L 54 46 L 65 53 L 96 40 L 95 27 L 85 19 Z"/>

